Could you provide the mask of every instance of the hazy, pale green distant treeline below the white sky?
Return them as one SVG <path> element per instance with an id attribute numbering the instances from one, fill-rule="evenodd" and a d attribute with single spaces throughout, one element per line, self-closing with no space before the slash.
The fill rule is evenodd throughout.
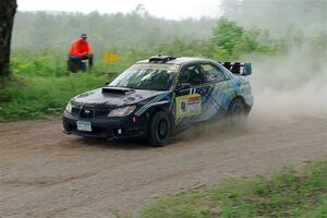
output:
<path id="1" fill-rule="evenodd" d="M 160 43 L 205 38 L 210 35 L 214 19 L 169 21 L 148 14 L 141 5 L 131 13 L 99 14 L 19 12 L 12 39 L 13 50 L 45 49 L 66 51 L 82 32 L 88 34 L 94 52 L 125 52 L 130 48 L 153 49 Z"/>

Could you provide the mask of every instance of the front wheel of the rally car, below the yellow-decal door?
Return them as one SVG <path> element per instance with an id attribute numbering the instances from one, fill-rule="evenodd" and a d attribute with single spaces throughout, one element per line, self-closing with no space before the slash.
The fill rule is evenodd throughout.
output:
<path id="1" fill-rule="evenodd" d="M 149 123 L 148 142 L 154 147 L 161 147 L 170 142 L 171 122 L 169 117 L 164 111 L 158 111 L 154 114 Z"/>

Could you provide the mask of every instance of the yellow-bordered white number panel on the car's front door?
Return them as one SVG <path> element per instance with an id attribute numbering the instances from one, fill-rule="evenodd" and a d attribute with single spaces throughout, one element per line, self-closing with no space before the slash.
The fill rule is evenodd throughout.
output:
<path id="1" fill-rule="evenodd" d="M 175 98 L 177 119 L 201 114 L 201 95 L 192 94 Z"/>

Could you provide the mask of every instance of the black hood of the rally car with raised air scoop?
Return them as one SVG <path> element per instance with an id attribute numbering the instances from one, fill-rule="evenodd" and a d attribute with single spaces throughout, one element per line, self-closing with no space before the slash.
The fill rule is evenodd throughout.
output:
<path id="1" fill-rule="evenodd" d="M 77 95 L 72 98 L 72 101 L 78 105 L 87 104 L 121 107 L 124 105 L 137 104 L 162 93 L 167 92 L 102 87 Z"/>

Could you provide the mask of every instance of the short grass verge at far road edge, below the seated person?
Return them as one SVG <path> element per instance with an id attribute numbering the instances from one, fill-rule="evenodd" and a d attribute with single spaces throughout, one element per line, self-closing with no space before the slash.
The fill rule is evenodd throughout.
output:
<path id="1" fill-rule="evenodd" d="M 0 122 L 59 116 L 70 98 L 102 86 L 112 76 L 98 73 L 15 75 L 15 81 L 0 89 Z"/>

